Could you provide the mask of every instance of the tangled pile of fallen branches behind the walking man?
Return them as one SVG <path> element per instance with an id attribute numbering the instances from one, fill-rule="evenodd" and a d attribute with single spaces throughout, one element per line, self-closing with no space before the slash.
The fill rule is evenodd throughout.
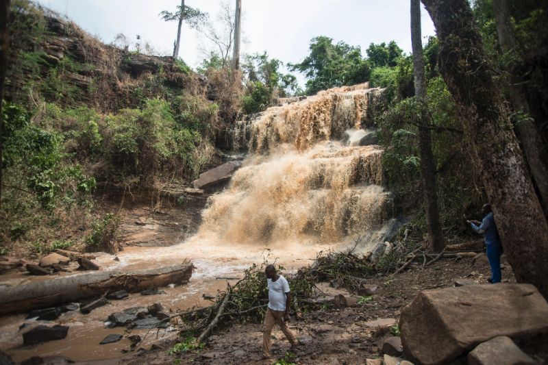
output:
<path id="1" fill-rule="evenodd" d="M 292 313 L 300 318 L 302 312 L 333 305 L 333 298 L 322 296 L 323 292 L 316 287 L 316 283 L 321 281 L 353 292 L 377 273 L 397 275 L 412 265 L 426 267 L 445 258 L 458 260 L 475 255 L 473 252 L 445 251 L 431 254 L 425 251 L 422 243 L 419 242 L 412 248 L 406 248 L 401 243 L 395 247 L 386 244 L 382 252 L 367 255 L 354 253 L 356 246 L 347 252 L 319 253 L 310 266 L 299 269 L 295 275 L 286 276 L 293 294 Z M 196 338 L 199 345 L 208 339 L 214 329 L 226 326 L 234 320 L 255 323 L 262 321 L 268 303 L 265 266 L 266 262 L 260 266 L 253 264 L 234 286 L 227 284 L 227 289 L 219 292 L 209 307 L 171 316 L 182 319 L 182 336 Z M 283 267 L 278 266 L 277 269 L 279 273 L 283 273 Z"/>

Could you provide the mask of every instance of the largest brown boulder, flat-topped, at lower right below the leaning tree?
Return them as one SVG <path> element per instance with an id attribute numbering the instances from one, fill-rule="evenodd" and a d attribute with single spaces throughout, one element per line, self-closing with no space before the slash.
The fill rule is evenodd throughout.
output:
<path id="1" fill-rule="evenodd" d="M 406 355 L 446 364 L 490 338 L 548 331 L 548 303 L 529 284 L 425 290 L 403 309 L 399 328 Z"/>

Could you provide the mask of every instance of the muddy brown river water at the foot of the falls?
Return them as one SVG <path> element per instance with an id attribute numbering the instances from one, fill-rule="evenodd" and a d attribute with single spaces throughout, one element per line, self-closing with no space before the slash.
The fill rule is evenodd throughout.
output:
<path id="1" fill-rule="evenodd" d="M 341 247 L 341 244 L 337 244 Z M 344 246 L 344 245 L 343 245 Z M 244 270 L 252 264 L 276 262 L 284 266 L 285 273 L 295 272 L 298 268 L 310 264 L 319 251 L 333 249 L 328 244 L 311 242 L 278 242 L 269 247 L 260 245 L 216 242 L 208 234 L 197 235 L 194 238 L 171 247 L 125 247 L 114 256 L 99 254 L 97 260 L 101 270 L 139 270 L 179 264 L 190 260 L 195 266 L 188 284 L 174 288 L 161 288 L 166 294 L 142 296 L 139 293 L 129 294 L 121 301 L 111 300 L 108 305 L 99 307 L 84 315 L 79 311 L 66 312 L 55 321 L 37 321 L 25 319 L 26 314 L 16 314 L 0 318 L 0 349 L 11 355 L 15 362 L 27 360 L 32 356 L 64 356 L 77 362 L 115 360 L 123 355 L 123 350 L 129 349 L 130 341 L 124 337 L 112 344 L 99 344 L 103 338 L 112 333 L 125 335 L 125 327 L 108 328 L 105 321 L 109 314 L 121 312 L 129 307 L 147 307 L 151 303 L 160 302 L 169 312 L 188 310 L 195 306 L 210 305 L 203 299 L 203 294 L 214 296 L 218 290 L 224 290 L 229 283 L 234 284 L 243 276 Z M 63 274 L 73 275 L 73 274 Z M 238 278 L 238 279 L 225 279 Z M 222 278 L 222 279 L 218 279 Z M 17 274 L 12 277 L 2 277 L 4 283 L 11 285 L 28 281 L 44 280 L 46 277 L 29 277 Z M 265 282 L 266 285 L 266 282 Z M 19 329 L 23 323 L 29 325 L 61 324 L 70 327 L 64 340 L 53 340 L 33 346 L 23 346 L 22 333 Z M 152 342 L 162 338 L 175 338 L 177 329 L 133 329 L 131 335 L 145 337 L 141 346 L 147 347 Z"/>

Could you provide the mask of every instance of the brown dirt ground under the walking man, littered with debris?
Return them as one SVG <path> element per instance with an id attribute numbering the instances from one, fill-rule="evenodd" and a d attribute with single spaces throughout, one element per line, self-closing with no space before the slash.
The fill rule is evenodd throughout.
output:
<path id="1" fill-rule="evenodd" d="M 510 266 L 503 257 L 503 281 L 514 282 Z M 454 286 L 456 279 L 486 284 L 490 270 L 486 257 L 479 260 L 446 259 L 431 267 L 414 267 L 395 276 L 378 276 L 369 284 L 378 286 L 373 299 L 357 307 L 325 310 L 292 318 L 289 327 L 299 337 L 301 347 L 290 351 L 279 329 L 273 331 L 273 357 L 262 360 L 262 325 L 256 323 L 217 329 L 201 351 L 168 355 L 175 340 L 159 343 L 155 349 L 137 350 L 123 357 L 119 364 L 364 364 L 381 357 L 382 341 L 393 336 L 390 327 L 397 323 L 401 309 L 421 290 Z M 375 327 L 369 322 L 386 319 Z M 276 327 L 275 327 L 276 328 Z"/>

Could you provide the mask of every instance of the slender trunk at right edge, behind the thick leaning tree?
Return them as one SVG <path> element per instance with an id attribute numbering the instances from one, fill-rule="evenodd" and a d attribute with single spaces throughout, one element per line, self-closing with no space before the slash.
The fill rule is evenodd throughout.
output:
<path id="1" fill-rule="evenodd" d="M 516 36 L 510 13 L 508 12 L 508 0 L 493 0 L 495 23 L 499 35 L 499 44 L 504 53 L 514 52 L 516 49 Z M 512 65 L 510 66 L 512 68 Z M 545 216 L 548 216 L 548 153 L 538 129 L 530 117 L 527 93 L 523 86 L 523 77 L 510 71 L 510 103 L 514 112 L 522 112 L 527 118 L 519 121 L 516 131 L 521 141 L 521 148 L 525 153 L 525 159 L 529 165 L 531 175 L 540 195 L 540 203 L 543 205 Z"/>

